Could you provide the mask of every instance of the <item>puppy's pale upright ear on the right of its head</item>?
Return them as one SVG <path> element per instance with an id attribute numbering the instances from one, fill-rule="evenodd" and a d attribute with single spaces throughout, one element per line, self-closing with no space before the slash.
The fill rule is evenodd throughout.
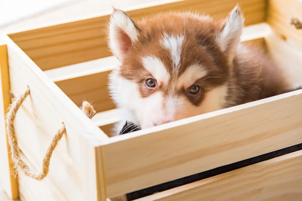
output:
<path id="1" fill-rule="evenodd" d="M 228 18 L 223 22 L 223 29 L 217 35 L 217 42 L 223 52 L 229 57 L 229 62 L 233 61 L 240 37 L 244 28 L 244 17 L 238 5 L 231 11 Z"/>

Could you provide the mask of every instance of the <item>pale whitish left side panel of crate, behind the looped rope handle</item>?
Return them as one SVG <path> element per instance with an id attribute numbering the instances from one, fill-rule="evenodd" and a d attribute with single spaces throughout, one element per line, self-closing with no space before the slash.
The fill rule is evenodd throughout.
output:
<path id="1" fill-rule="evenodd" d="M 26 85 L 31 89 L 15 120 L 19 146 L 35 167 L 41 161 L 53 134 L 65 123 L 66 135 L 52 154 L 49 173 L 51 180 L 71 200 L 82 197 L 82 182 L 86 175 L 81 154 L 80 136 L 87 146 L 95 147 L 108 138 L 91 120 L 52 82 L 38 66 L 8 37 L 5 37 L 9 54 L 9 72 L 12 93 L 23 93 Z M 85 131 L 85 134 L 82 132 Z M 98 190 L 98 189 L 92 189 Z"/>

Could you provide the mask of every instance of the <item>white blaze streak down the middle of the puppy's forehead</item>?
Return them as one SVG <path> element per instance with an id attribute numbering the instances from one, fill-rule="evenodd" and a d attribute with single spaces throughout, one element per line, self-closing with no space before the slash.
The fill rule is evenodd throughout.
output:
<path id="1" fill-rule="evenodd" d="M 173 71 L 176 73 L 180 67 L 180 57 L 181 57 L 181 45 L 184 41 L 183 35 L 178 36 L 169 36 L 165 33 L 164 38 L 161 41 L 161 44 L 170 50 L 171 58 L 174 63 Z"/>

